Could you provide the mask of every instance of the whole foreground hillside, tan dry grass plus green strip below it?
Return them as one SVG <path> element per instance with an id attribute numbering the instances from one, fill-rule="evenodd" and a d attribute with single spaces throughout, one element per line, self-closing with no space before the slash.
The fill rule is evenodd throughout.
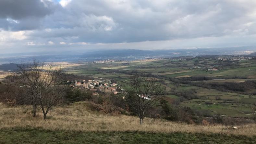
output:
<path id="1" fill-rule="evenodd" d="M 0 104 L 1 143 L 255 143 L 255 124 L 238 126 L 191 125 L 163 119 L 108 115 L 76 102 L 31 116 L 30 106 Z"/>

